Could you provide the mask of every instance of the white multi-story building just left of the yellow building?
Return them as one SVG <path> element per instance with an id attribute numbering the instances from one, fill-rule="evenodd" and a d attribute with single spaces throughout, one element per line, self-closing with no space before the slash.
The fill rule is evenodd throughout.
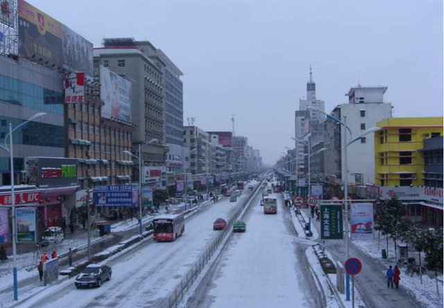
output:
<path id="1" fill-rule="evenodd" d="M 361 89 L 365 90 L 361 92 Z M 375 127 L 378 121 L 391 117 L 391 103 L 383 102 L 383 94 L 386 89 L 387 87 L 352 87 L 346 94 L 349 96 L 349 103 L 336 106 L 331 115 L 341 121 L 344 121 L 344 117 L 346 117 L 351 137 L 355 139 L 369 128 Z M 355 96 L 359 96 L 359 102 L 352 99 Z M 332 119 L 325 119 L 324 131 L 324 146 L 327 148 L 323 153 L 325 176 L 336 176 L 336 178 L 342 179 L 345 171 L 342 164 L 341 140 L 343 134 L 346 133 L 347 140 L 350 142 L 350 132 Z M 371 135 L 362 137 L 359 141 L 347 147 L 349 183 L 373 182 L 375 178 L 373 149 L 374 140 Z M 362 162 L 366 162 L 366 164 Z"/>

